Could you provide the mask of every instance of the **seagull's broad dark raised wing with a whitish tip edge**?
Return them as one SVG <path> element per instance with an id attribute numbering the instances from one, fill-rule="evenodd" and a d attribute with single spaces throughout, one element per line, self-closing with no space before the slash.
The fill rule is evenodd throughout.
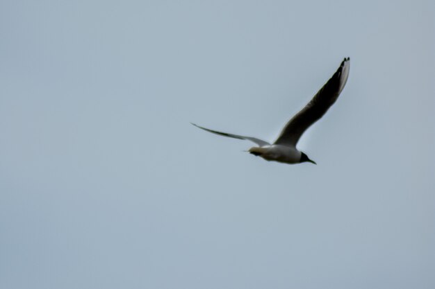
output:
<path id="1" fill-rule="evenodd" d="M 311 101 L 290 121 L 274 142 L 284 146 L 296 146 L 297 141 L 307 128 L 318 121 L 333 105 L 345 87 L 349 76 L 350 58 L 345 58 L 336 73 L 326 82 Z"/>

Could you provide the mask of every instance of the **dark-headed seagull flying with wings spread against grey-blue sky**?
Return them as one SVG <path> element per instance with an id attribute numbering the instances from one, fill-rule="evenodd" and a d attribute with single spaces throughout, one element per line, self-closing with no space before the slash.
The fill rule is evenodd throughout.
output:
<path id="1" fill-rule="evenodd" d="M 202 130 L 206 130 L 207 132 L 219 134 L 224 137 L 252 141 L 258 146 L 249 148 L 247 152 L 256 157 L 262 157 L 267 161 L 278 161 L 284 164 L 300 164 L 304 162 L 316 164 L 315 161 L 309 159 L 304 152 L 296 148 L 297 141 L 299 141 L 306 129 L 322 118 L 329 107 L 336 102 L 340 92 L 343 90 L 347 82 L 349 67 L 350 58 L 345 58 L 341 62 L 336 73 L 334 73 L 318 93 L 315 94 L 313 99 L 311 99 L 311 101 L 305 105 L 301 111 L 295 114 L 295 116 L 286 123 L 283 130 L 281 130 L 279 137 L 272 144 L 255 137 L 245 137 L 238 134 L 218 132 L 217 130 L 203 128 L 195 123 L 192 123 L 192 125 L 195 125 L 197 128 L 201 128 Z"/>

